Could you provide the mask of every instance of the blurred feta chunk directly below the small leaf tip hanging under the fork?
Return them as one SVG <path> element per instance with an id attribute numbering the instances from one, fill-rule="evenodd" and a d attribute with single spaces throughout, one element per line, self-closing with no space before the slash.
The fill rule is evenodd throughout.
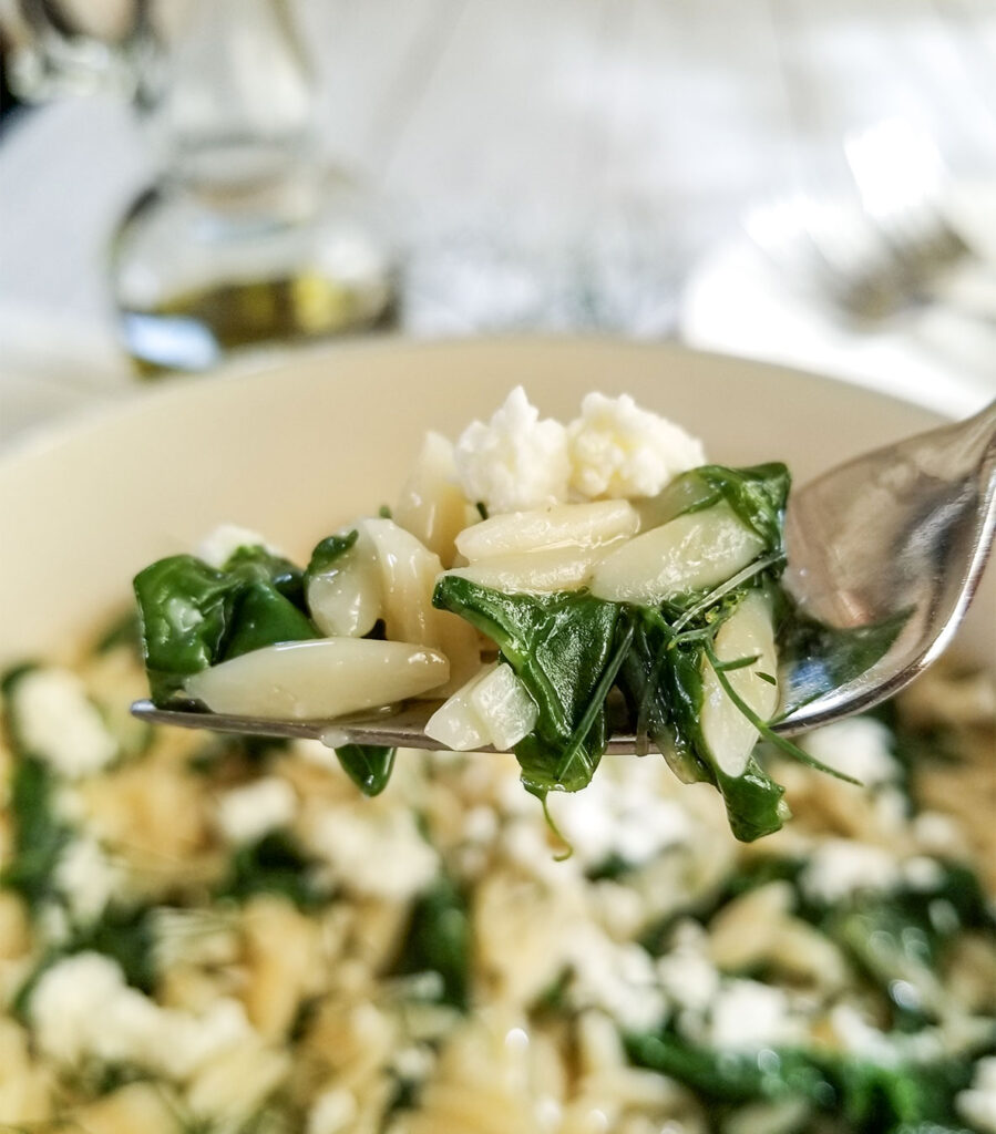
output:
<path id="1" fill-rule="evenodd" d="M 400 902 L 439 871 L 439 855 L 420 835 L 414 814 L 400 809 L 329 807 L 309 843 L 332 880 L 355 894 Z"/>

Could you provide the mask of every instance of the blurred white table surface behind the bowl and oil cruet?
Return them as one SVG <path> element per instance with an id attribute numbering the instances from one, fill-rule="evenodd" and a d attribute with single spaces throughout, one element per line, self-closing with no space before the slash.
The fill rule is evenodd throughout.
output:
<path id="1" fill-rule="evenodd" d="M 382 204 L 413 335 L 674 335 L 690 271 L 744 209 L 838 176 L 844 132 L 893 115 L 929 128 L 959 176 L 996 172 L 988 0 L 301 9 L 324 152 Z M 60 391 L 71 409 L 128 387 L 103 249 L 150 176 L 110 100 L 0 133 L 0 433 Z"/>

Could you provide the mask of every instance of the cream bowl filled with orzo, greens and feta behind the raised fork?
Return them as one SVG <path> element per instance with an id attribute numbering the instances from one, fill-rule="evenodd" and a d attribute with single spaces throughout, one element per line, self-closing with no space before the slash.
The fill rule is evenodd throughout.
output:
<path id="1" fill-rule="evenodd" d="M 61 543 L 94 481 L 119 486 L 88 503 L 100 561 L 69 544 L 75 594 L 43 562 L 54 532 L 25 523 L 5 538 L 37 583 L 29 591 L 15 566 L 7 589 L 0 1123 L 98 1134 L 996 1128 L 985 631 L 973 655 L 967 628 L 964 670 L 804 739 L 862 786 L 759 751 L 793 818 L 749 844 L 710 785 L 681 784 L 659 755 L 605 756 L 584 792 L 550 793 L 573 847 L 557 861 L 564 844 L 512 754 L 403 752 L 371 798 L 314 742 L 153 733 L 127 716 L 145 688 L 133 624 L 98 641 L 93 615 L 133 574 L 221 517 L 305 556 L 371 494 L 395 499 L 423 426 L 456 435 L 488 416 L 515 384 L 495 387 L 489 366 L 565 418 L 594 386 L 632 391 L 724 462 L 784 449 L 801 477 L 807 445 L 792 431 L 805 414 L 793 422 L 790 406 L 787 432 L 773 433 L 773 395 L 804 389 L 845 413 L 856 399 L 869 429 L 896 434 L 911 413 L 680 352 L 467 345 L 385 362 L 381 349 L 334 352 L 282 382 L 167 391 L 20 455 L 36 491 L 41 466 L 58 466 L 61 497 L 40 499 Z M 440 371 L 476 378 L 447 387 Z M 410 445 L 393 467 L 371 472 L 366 451 L 383 442 L 383 459 L 391 441 L 362 413 L 378 381 L 400 373 L 417 423 L 404 423 Z M 285 435 L 309 399 L 305 416 L 321 417 L 326 399 L 363 423 L 336 437 L 364 435 L 310 458 L 318 434 Z M 712 414 L 694 412 L 710 400 L 711 429 Z M 239 406 L 255 424 L 229 429 L 218 411 Z M 763 435 L 744 446 L 752 429 Z M 182 438 L 194 454 L 213 438 L 213 462 L 184 467 Z M 81 472 L 109 440 L 135 446 L 119 474 Z M 254 446 L 250 477 L 243 450 Z M 841 455 L 830 439 L 810 459 Z M 322 462 L 352 472 L 337 483 Z M 5 499 L 27 483 L 18 475 L 0 469 Z M 301 484 L 309 500 L 295 503 Z M 126 531 L 136 492 L 149 518 Z M 71 552 L 64 565 L 73 570 Z M 67 637 L 86 644 L 60 650 Z"/>

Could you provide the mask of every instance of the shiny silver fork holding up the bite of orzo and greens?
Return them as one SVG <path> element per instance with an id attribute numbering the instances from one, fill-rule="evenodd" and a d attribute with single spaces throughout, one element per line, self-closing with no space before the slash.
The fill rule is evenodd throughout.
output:
<path id="1" fill-rule="evenodd" d="M 793 735 L 892 696 L 948 645 L 974 594 L 996 526 L 996 401 L 974 417 L 877 449 L 824 473 L 792 494 L 785 585 L 804 611 L 838 627 L 904 616 L 898 636 L 870 669 L 773 723 Z M 783 688 L 805 685 L 820 659 L 801 659 Z M 438 748 L 424 733 L 438 702 L 396 714 L 335 721 L 263 720 L 157 709 L 137 701 L 143 720 L 250 736 L 311 737 L 345 744 Z M 633 752 L 632 734 L 609 752 Z"/>

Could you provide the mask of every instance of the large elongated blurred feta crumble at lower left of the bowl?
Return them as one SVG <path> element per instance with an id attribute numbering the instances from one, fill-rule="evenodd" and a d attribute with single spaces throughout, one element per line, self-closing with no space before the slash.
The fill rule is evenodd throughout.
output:
<path id="1" fill-rule="evenodd" d="M 236 1000 L 217 1000 L 203 1016 L 162 1008 L 129 988 L 120 966 L 78 953 L 45 972 L 31 998 L 41 1050 L 70 1066 L 86 1058 L 133 1063 L 185 1078 L 252 1034 Z"/>

